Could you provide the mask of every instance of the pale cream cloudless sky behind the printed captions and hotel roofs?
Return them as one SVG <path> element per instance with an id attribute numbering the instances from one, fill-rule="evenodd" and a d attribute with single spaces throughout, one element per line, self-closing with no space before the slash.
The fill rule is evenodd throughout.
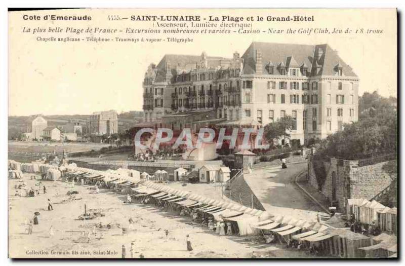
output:
<path id="1" fill-rule="evenodd" d="M 44 13 L 45 12 L 45 13 Z M 47 11 L 35 11 L 44 15 Z M 55 11 L 54 13 L 57 13 Z M 63 12 L 63 11 L 59 11 Z M 397 55 L 396 18 L 394 10 L 119 10 L 121 16 L 132 14 L 183 15 L 314 15 L 310 23 L 254 22 L 254 27 L 279 28 L 363 28 L 382 29 L 383 34 L 212 34 L 190 35 L 187 44 L 168 42 L 41 42 L 38 36 L 57 36 L 53 33 L 22 32 L 23 27 L 72 28 L 127 27 L 150 28 L 151 22 L 107 21 L 110 10 L 76 10 L 77 14 L 92 15 L 89 22 L 24 21 L 22 14 L 9 15 L 9 116 L 89 115 L 94 111 L 115 109 L 118 112 L 142 110 L 142 81 L 150 63 L 158 63 L 165 54 L 232 57 L 234 51 L 242 55 L 253 41 L 325 44 L 337 50 L 360 79 L 359 95 L 378 91 L 382 96 L 396 97 Z M 33 12 L 31 12 L 33 14 Z M 49 11 L 48 11 L 49 13 Z M 67 24 L 68 23 L 68 24 Z M 119 24 L 114 24 L 119 23 Z M 62 34 L 76 37 L 77 35 Z M 104 36 L 104 35 L 101 35 Z M 110 36 L 106 34 L 105 36 Z M 112 35 L 115 36 L 115 35 Z M 120 37 L 141 39 L 150 34 L 124 34 Z M 168 35 L 152 36 L 165 37 Z M 187 37 L 186 35 L 171 35 Z"/>

